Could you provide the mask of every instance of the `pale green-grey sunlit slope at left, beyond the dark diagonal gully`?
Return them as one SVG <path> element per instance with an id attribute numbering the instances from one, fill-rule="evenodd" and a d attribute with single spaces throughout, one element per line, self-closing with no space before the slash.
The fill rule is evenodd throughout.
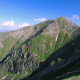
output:
<path id="1" fill-rule="evenodd" d="M 0 33 L 0 55 L 1 55 L 0 60 L 2 60 L 4 57 L 6 57 L 7 54 L 9 54 L 9 51 L 16 43 L 19 42 L 19 40 L 21 44 L 30 36 L 35 34 L 39 30 L 39 29 L 35 30 L 35 27 L 37 26 L 38 25 L 28 26 L 28 27 L 23 27 L 16 31 Z M 20 44 L 18 44 L 18 46 Z"/>

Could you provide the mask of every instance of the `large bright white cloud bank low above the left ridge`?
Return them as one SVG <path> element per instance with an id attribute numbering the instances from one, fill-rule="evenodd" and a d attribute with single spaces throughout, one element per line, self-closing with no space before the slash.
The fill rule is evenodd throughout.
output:
<path id="1" fill-rule="evenodd" d="M 28 23 L 22 23 L 20 25 L 15 25 L 14 21 L 11 20 L 11 21 L 6 21 L 6 22 L 3 22 L 0 24 L 0 32 L 1 30 L 17 30 L 17 29 L 20 29 L 24 26 L 29 26 Z"/>

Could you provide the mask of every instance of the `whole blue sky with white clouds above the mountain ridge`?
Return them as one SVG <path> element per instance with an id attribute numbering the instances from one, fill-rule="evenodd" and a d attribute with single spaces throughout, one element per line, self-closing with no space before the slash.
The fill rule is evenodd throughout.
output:
<path id="1" fill-rule="evenodd" d="M 80 26 L 80 0 L 0 0 L 0 32 L 60 16 Z"/>

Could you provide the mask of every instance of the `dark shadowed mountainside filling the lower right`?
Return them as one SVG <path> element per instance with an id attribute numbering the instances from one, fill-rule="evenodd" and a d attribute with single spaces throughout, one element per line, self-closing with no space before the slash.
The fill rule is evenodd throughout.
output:
<path id="1" fill-rule="evenodd" d="M 54 80 L 57 76 L 61 76 L 70 71 L 79 70 L 80 51 L 78 50 L 80 50 L 80 45 L 78 44 L 80 44 L 80 36 L 51 54 L 44 62 L 39 64 L 39 68 L 34 70 L 30 76 L 23 80 L 50 80 L 51 78 Z M 56 62 L 58 58 L 62 58 L 63 60 L 49 66 L 51 61 L 55 60 Z M 68 77 L 68 75 L 66 77 Z"/>

